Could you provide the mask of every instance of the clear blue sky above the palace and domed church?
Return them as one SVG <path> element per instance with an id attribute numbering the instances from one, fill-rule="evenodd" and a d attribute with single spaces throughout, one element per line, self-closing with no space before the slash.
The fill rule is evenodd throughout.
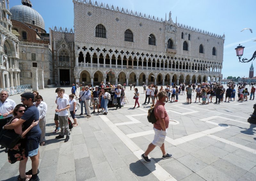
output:
<path id="1" fill-rule="evenodd" d="M 45 30 L 67 27 L 74 30 L 74 10 L 72 0 L 30 0 L 33 9 L 44 18 Z M 89 0 L 88 0 L 89 1 Z M 9 0 L 10 8 L 20 5 L 21 0 Z M 242 58 L 251 59 L 256 51 L 256 0 L 106 0 L 97 1 L 110 6 L 124 7 L 133 12 L 141 12 L 155 17 L 167 18 L 172 11 L 172 19 L 183 25 L 193 26 L 215 34 L 225 33 L 223 53 L 223 79 L 227 76 L 248 77 L 251 64 L 256 76 L 256 59 L 248 63 L 239 62 L 235 48 L 241 44 L 244 48 Z M 110 6 L 111 7 L 111 6 Z M 251 28 L 243 30 L 244 28 Z"/>

